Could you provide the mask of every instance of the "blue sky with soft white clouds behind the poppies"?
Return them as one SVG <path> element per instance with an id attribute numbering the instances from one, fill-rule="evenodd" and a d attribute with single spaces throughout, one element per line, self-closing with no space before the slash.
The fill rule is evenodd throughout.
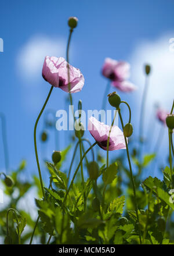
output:
<path id="1" fill-rule="evenodd" d="M 104 58 L 110 57 L 129 61 L 132 65 L 131 81 L 139 90 L 120 95 L 131 105 L 135 133 L 144 83 L 144 62 L 154 61 L 154 78 L 152 72 L 146 115 L 151 115 L 156 101 L 165 108 L 171 108 L 174 53 L 169 53 L 168 41 L 174 37 L 173 9 L 172 0 L 1 1 L 0 38 L 3 38 L 4 52 L 0 52 L 0 111 L 5 113 L 7 119 L 10 167 L 15 169 L 24 158 L 28 162 L 28 175 L 37 173 L 33 129 L 50 88 L 41 76 L 42 61 L 45 55 L 65 56 L 69 16 L 79 19 L 73 33 L 70 63 L 81 69 L 85 77 L 83 90 L 73 95 L 75 106 L 78 99 L 82 99 L 85 110 L 101 108 L 107 81 L 100 70 Z M 46 108 L 64 109 L 66 97 L 66 93 L 54 88 Z M 128 116 L 125 115 L 125 118 Z M 151 121 L 151 127 L 154 122 Z M 42 127 L 43 118 L 39 122 L 38 136 Z M 159 128 L 157 123 L 155 135 Z M 59 137 L 64 147 L 64 133 L 60 132 Z M 88 131 L 86 137 L 90 137 Z M 155 141 L 155 138 L 152 139 Z M 2 170 L 2 140 L 0 142 Z M 55 150 L 53 138 L 50 138 L 47 147 L 47 157 L 50 158 L 50 152 Z M 40 153 L 39 142 L 38 149 Z M 164 150 L 166 154 L 165 140 L 162 150 L 161 154 L 164 155 Z"/>

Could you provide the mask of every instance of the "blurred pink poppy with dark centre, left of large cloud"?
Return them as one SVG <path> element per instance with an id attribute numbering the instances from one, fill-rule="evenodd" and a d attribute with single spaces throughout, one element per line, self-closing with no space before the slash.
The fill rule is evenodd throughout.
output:
<path id="1" fill-rule="evenodd" d="M 112 81 L 111 85 L 123 92 L 131 92 L 136 90 L 136 86 L 128 81 L 130 76 L 130 65 L 128 62 L 115 61 L 106 58 L 102 68 L 103 76 Z"/>

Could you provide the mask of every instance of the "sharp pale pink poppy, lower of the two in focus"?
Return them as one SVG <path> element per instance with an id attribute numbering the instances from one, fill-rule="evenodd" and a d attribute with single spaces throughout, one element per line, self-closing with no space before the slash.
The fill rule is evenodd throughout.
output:
<path id="1" fill-rule="evenodd" d="M 104 125 L 104 123 L 97 121 L 96 118 L 91 116 L 88 122 L 88 130 L 93 138 L 95 138 L 99 147 L 103 148 L 103 150 L 107 150 L 107 139 L 110 126 Z M 123 132 L 118 126 L 113 126 L 110 133 L 108 150 L 122 150 L 125 148 L 126 144 Z"/>

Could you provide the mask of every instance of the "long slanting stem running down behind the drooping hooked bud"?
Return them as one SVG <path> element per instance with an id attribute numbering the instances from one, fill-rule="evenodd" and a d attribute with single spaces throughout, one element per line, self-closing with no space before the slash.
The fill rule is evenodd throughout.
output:
<path id="1" fill-rule="evenodd" d="M 124 123 L 123 123 L 123 120 L 122 120 L 120 109 L 118 109 L 118 113 L 119 113 L 119 119 L 121 120 L 122 129 L 124 129 Z M 135 181 L 134 181 L 134 178 L 133 178 L 131 159 L 130 159 L 130 156 L 129 156 L 128 142 L 127 142 L 127 138 L 126 137 L 125 137 L 125 144 L 126 144 L 126 152 L 127 152 L 127 157 L 128 157 L 128 162 L 129 162 L 129 169 L 130 169 L 130 174 L 131 174 L 131 182 L 132 182 L 132 187 L 133 187 L 133 195 L 134 195 L 134 201 L 135 201 L 136 218 L 137 218 L 138 227 L 139 227 L 139 239 L 140 239 L 140 244 L 142 244 L 142 238 L 141 238 L 141 232 L 140 232 L 140 226 L 139 226 L 139 214 L 138 214 L 137 199 L 136 199 Z"/>

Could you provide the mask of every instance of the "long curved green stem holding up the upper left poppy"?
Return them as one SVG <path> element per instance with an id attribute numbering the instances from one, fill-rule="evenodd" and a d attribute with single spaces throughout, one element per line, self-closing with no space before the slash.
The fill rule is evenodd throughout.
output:
<path id="1" fill-rule="evenodd" d="M 52 93 L 52 90 L 53 90 L 53 86 L 50 88 L 50 91 L 49 91 L 49 94 L 48 94 L 48 97 L 46 98 L 46 101 L 44 103 L 44 106 L 42 106 L 42 109 L 41 109 L 41 112 L 39 113 L 38 115 L 38 118 L 35 122 L 35 126 L 34 126 L 34 148 L 35 148 L 35 157 L 36 157 L 36 161 L 37 161 L 37 166 L 38 166 L 38 172 L 39 172 L 39 179 L 40 179 L 40 183 L 41 183 L 41 189 L 42 189 L 42 195 L 44 197 L 44 199 L 46 200 L 46 197 L 45 197 L 45 192 L 44 192 L 44 186 L 43 186 L 43 182 L 42 182 L 42 175 L 41 175 L 41 169 L 40 169 L 40 166 L 39 166 L 39 159 L 38 159 L 38 151 L 37 151 L 37 140 L 36 140 L 36 130 L 37 130 L 37 125 L 38 125 L 38 122 L 39 122 L 39 119 L 42 115 L 42 112 L 44 111 L 45 109 L 45 106 L 48 102 L 48 99 L 50 97 L 50 94 Z"/>

